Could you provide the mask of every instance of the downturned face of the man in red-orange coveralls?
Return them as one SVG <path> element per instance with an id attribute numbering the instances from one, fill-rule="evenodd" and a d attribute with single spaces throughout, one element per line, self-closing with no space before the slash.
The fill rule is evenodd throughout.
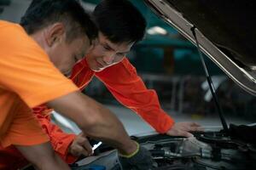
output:
<path id="1" fill-rule="evenodd" d="M 101 32 L 98 42 L 86 56 L 86 60 L 92 71 L 102 71 L 105 68 L 119 63 L 130 51 L 132 43 L 113 43 Z"/>

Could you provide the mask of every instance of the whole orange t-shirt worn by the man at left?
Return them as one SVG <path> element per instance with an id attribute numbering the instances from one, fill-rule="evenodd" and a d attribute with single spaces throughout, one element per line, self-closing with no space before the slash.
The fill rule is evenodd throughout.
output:
<path id="1" fill-rule="evenodd" d="M 0 147 L 48 141 L 30 108 L 76 90 L 20 25 L 0 20 Z"/>

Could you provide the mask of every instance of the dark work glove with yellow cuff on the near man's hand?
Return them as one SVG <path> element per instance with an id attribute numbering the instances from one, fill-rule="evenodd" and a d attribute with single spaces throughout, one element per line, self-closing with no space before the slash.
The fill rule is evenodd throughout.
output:
<path id="1" fill-rule="evenodd" d="M 119 154 L 119 161 L 123 170 L 150 170 L 153 167 L 153 159 L 150 152 L 137 144 L 137 150 L 130 156 Z"/>

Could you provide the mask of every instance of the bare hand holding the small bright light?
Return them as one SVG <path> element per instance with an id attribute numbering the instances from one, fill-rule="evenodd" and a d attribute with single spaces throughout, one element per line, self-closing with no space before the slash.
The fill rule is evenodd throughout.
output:
<path id="1" fill-rule="evenodd" d="M 93 154 L 89 140 L 85 137 L 84 133 L 79 133 L 73 140 L 68 152 L 73 156 L 91 156 Z"/>

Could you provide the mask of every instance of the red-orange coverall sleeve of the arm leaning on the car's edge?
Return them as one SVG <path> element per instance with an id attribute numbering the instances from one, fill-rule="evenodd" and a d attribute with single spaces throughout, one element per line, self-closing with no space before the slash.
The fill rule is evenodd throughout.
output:
<path id="1" fill-rule="evenodd" d="M 120 103 L 137 112 L 157 132 L 166 133 L 172 127 L 174 121 L 160 108 L 157 94 L 145 87 L 128 59 L 97 72 L 96 77 Z"/>

